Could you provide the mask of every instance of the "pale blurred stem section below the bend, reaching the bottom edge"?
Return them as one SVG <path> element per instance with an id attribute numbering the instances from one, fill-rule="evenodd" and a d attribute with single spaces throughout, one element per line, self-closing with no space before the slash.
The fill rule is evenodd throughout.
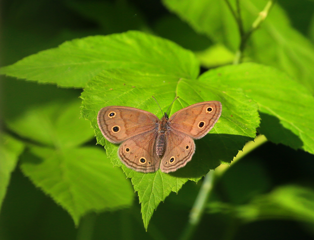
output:
<path id="1" fill-rule="evenodd" d="M 189 222 L 184 232 L 181 235 L 181 240 L 190 239 L 195 231 L 195 228 L 198 226 L 199 221 L 204 212 L 205 203 L 207 202 L 209 193 L 213 188 L 213 175 L 214 171 L 210 170 L 206 174 L 201 189 L 198 192 L 198 196 L 194 202 L 192 210 L 190 212 Z"/>

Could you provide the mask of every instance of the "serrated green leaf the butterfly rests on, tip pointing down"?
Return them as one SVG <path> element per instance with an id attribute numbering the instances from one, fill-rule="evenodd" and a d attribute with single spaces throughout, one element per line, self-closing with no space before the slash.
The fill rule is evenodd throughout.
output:
<path id="1" fill-rule="evenodd" d="M 140 173 L 127 169 L 134 189 L 142 203 L 142 217 L 147 228 L 149 220 L 160 201 L 177 192 L 188 180 L 198 181 L 220 163 L 230 163 L 247 140 L 255 137 L 259 125 L 257 105 L 244 96 L 240 89 L 226 88 L 208 81 L 178 78 L 166 74 L 140 72 L 130 69 L 106 70 L 89 81 L 82 93 L 82 116 L 91 121 L 98 143 L 106 146 L 114 166 L 122 163 L 117 156 L 118 145 L 105 141 L 97 125 L 97 113 L 105 106 L 117 105 L 143 109 L 161 117 L 154 96 L 166 111 L 175 96 L 180 96 L 171 113 L 193 103 L 218 100 L 222 102 L 222 116 L 204 138 L 196 141 L 196 153 L 186 167 L 171 174 L 160 171 Z"/>

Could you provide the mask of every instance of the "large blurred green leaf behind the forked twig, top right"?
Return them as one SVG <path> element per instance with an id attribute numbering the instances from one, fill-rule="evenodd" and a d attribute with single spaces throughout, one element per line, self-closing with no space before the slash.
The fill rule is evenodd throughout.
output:
<path id="1" fill-rule="evenodd" d="M 225 44 L 230 50 L 238 49 L 238 27 L 224 0 L 163 2 L 199 33 L 207 34 L 210 39 Z M 230 3 L 235 9 L 235 0 Z M 243 0 L 240 3 L 245 29 L 248 30 L 266 2 Z M 292 28 L 279 5 L 271 9 L 261 28 L 251 35 L 246 55 L 259 63 L 284 70 L 314 92 L 314 47 Z"/>

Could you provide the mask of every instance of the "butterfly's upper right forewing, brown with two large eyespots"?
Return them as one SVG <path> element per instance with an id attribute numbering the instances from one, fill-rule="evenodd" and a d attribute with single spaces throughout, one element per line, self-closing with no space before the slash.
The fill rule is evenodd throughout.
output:
<path id="1" fill-rule="evenodd" d="M 202 138 L 214 127 L 221 110 L 222 106 L 218 101 L 199 102 L 172 114 L 169 125 L 194 139 Z"/>

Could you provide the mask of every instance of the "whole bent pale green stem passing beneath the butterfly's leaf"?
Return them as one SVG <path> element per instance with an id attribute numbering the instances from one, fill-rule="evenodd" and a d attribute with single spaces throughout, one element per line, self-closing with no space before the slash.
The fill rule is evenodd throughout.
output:
<path id="1" fill-rule="evenodd" d="M 250 141 L 245 144 L 242 151 L 239 151 L 236 157 L 233 158 L 233 161 L 237 161 L 243 158 L 246 154 L 250 153 L 252 150 L 256 149 L 266 142 L 267 138 L 264 135 L 258 135 L 257 138 L 254 139 L 254 141 Z M 229 166 L 220 165 L 218 168 L 215 169 L 215 171 L 211 170 L 208 172 L 208 174 L 206 174 L 201 189 L 198 192 L 198 196 L 196 197 L 196 200 L 190 212 L 189 222 L 187 224 L 187 227 L 183 231 L 180 240 L 191 239 L 196 227 L 198 226 L 198 223 L 202 218 L 207 199 L 211 193 L 211 190 L 213 189 L 214 173 L 215 175 L 222 175 L 222 173 L 227 170 L 226 167 Z"/>

